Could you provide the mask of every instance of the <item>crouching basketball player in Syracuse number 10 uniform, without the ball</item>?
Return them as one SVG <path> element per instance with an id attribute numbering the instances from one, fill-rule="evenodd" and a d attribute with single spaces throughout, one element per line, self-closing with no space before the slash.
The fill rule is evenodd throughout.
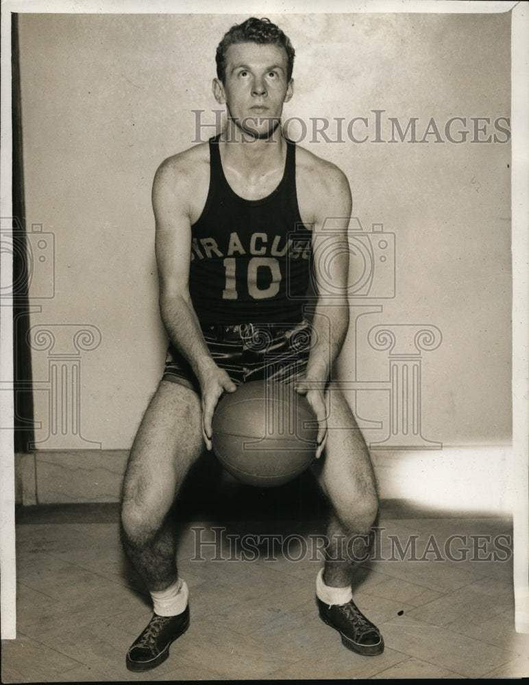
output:
<path id="1" fill-rule="evenodd" d="M 351 193 L 336 166 L 283 134 L 293 60 L 290 40 L 269 20 L 232 27 L 217 48 L 213 81 L 214 97 L 227 109 L 225 130 L 165 160 L 154 179 L 169 351 L 123 483 L 123 544 L 154 610 L 127 653 L 131 671 L 158 666 L 189 625 L 188 586 L 177 573 L 168 512 L 190 466 L 212 447 L 219 397 L 264 377 L 293 384 L 319 421 L 313 471 L 333 510 L 332 544 L 316 578 L 321 619 L 352 651 L 384 649 L 378 628 L 352 600 L 354 560 L 366 557 L 378 511 L 375 479 L 351 410 L 331 380 L 349 321 L 343 245 Z M 325 234 L 328 217 L 332 234 Z M 328 279 L 323 251 L 332 247 L 333 289 L 325 284 L 308 323 L 303 297 L 311 262 L 321 288 Z M 352 556 L 336 549 L 339 536 L 354 540 Z"/>

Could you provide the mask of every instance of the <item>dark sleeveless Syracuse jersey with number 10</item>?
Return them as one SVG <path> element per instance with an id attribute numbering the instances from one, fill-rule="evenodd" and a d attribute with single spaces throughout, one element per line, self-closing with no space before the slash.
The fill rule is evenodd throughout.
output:
<path id="1" fill-rule="evenodd" d="M 296 323 L 309 283 L 311 233 L 297 207 L 295 144 L 287 141 L 283 178 L 260 200 L 228 184 L 219 136 L 210 140 L 206 206 L 191 227 L 189 290 L 202 323 Z"/>

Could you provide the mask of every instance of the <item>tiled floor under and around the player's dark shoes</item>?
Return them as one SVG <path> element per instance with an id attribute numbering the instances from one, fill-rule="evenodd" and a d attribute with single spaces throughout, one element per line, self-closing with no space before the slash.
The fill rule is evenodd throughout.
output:
<path id="1" fill-rule="evenodd" d="M 258 499 L 256 493 L 247 499 Z M 317 616 L 320 562 L 312 543 L 323 532 L 318 507 L 316 520 L 287 523 L 276 494 L 273 507 L 266 508 L 270 501 L 258 506 L 253 520 L 243 499 L 238 519 L 232 509 L 217 519 L 206 512 L 202 520 L 181 521 L 180 572 L 190 587 L 191 625 L 164 664 L 138 675 L 125 668 L 125 653 L 149 620 L 149 602 L 121 553 L 116 506 L 21 510 L 18 633 L 2 646 L 2 682 L 529 674 L 529 636 L 514 630 L 508 519 L 411 516 L 385 503 L 376 549 L 354 596 L 380 626 L 386 649 L 362 657 L 343 648 Z M 235 536 L 231 548 L 226 538 L 222 548 L 197 547 L 212 540 L 212 526 Z M 264 540 L 256 560 L 236 560 L 244 534 Z M 274 547 L 271 535 L 282 542 Z M 245 549 L 247 557 L 256 556 Z M 212 560 L 216 554 L 223 560 Z"/>

